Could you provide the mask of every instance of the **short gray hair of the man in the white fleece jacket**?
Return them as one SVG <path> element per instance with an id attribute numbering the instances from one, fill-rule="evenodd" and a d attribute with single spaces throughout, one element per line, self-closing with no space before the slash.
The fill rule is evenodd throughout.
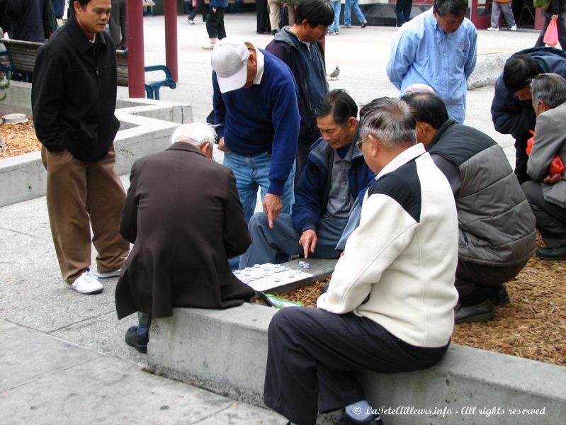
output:
<path id="1" fill-rule="evenodd" d="M 373 135 L 388 149 L 417 143 L 417 121 L 407 103 L 396 98 L 373 99 L 360 111 L 360 137 Z"/>

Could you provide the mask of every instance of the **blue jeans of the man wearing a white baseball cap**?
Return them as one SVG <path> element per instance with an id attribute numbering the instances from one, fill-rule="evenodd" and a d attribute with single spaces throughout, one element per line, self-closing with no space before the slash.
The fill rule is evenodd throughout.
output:
<path id="1" fill-rule="evenodd" d="M 256 209 L 258 188 L 261 188 L 261 200 L 264 200 L 269 188 L 271 155 L 266 152 L 254 155 L 240 155 L 230 152 L 230 154 L 224 155 L 224 165 L 234 171 L 239 200 L 244 209 L 244 218 L 246 222 L 249 222 Z M 291 212 L 291 205 L 295 202 L 295 193 L 293 192 L 294 176 L 295 164 L 293 164 L 287 181 L 285 181 L 283 194 L 281 195 L 281 202 L 283 203 L 281 212 L 288 214 Z"/>

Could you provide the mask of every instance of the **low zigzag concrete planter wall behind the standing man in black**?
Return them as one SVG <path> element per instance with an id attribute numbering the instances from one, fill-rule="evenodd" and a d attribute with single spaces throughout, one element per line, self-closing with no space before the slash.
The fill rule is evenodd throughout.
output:
<path id="1" fill-rule="evenodd" d="M 12 81 L 1 113 L 31 114 L 31 84 Z M 128 174 L 136 159 L 170 145 L 179 124 L 193 119 L 191 106 L 148 99 L 118 99 L 115 115 L 120 131 L 115 137 L 116 170 Z M 0 160 L 0 206 L 45 195 L 45 169 L 40 152 Z"/>

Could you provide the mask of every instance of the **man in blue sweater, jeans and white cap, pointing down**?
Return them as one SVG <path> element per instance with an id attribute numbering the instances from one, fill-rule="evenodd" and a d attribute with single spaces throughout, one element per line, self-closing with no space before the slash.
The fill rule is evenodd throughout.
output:
<path id="1" fill-rule="evenodd" d="M 297 84 L 277 57 L 251 43 L 224 38 L 214 48 L 213 104 L 218 149 L 236 176 L 249 221 L 261 187 L 269 227 L 293 205 L 300 115 Z"/>

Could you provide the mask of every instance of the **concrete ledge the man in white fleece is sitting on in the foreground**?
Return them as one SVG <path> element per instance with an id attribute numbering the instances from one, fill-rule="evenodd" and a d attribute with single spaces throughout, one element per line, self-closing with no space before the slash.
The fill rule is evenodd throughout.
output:
<path id="1" fill-rule="evenodd" d="M 148 363 L 169 378 L 261 405 L 267 329 L 275 312 L 249 304 L 231 310 L 177 308 L 173 317 L 154 320 Z M 559 424 L 566 415 L 566 368 L 476 348 L 453 345 L 427 370 L 365 372 L 359 378 L 374 409 L 431 410 L 386 414 L 387 424 Z M 543 415 L 509 412 L 543 408 Z"/>

